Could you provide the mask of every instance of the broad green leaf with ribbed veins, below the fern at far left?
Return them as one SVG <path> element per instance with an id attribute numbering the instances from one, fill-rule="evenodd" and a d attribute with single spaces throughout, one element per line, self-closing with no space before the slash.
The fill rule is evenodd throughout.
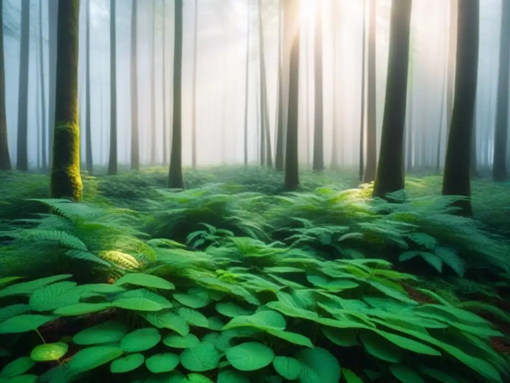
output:
<path id="1" fill-rule="evenodd" d="M 56 308 L 78 303 L 80 295 L 72 290 L 77 283 L 63 281 L 44 286 L 30 296 L 30 308 L 35 311 L 53 311 Z"/>

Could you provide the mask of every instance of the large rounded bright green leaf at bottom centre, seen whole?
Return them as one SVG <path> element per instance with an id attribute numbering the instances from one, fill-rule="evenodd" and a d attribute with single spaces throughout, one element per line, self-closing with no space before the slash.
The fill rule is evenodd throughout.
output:
<path id="1" fill-rule="evenodd" d="M 262 343 L 246 342 L 229 348 L 225 356 L 235 369 L 255 371 L 269 365 L 274 359 L 274 352 Z"/>

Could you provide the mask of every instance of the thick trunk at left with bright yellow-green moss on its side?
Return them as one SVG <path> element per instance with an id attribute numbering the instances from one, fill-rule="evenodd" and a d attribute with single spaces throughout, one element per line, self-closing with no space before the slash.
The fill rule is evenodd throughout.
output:
<path id="1" fill-rule="evenodd" d="M 78 126 L 78 31 L 80 1 L 59 2 L 55 129 L 50 197 L 82 198 Z"/>

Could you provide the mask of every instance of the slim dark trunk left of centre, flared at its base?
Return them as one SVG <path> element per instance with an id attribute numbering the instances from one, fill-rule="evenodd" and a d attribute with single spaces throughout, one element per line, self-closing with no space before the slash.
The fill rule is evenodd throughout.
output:
<path id="1" fill-rule="evenodd" d="M 173 44 L 173 118 L 172 151 L 168 186 L 171 189 L 183 189 L 182 160 L 182 73 L 183 73 L 183 0 L 175 0 L 175 34 Z"/>

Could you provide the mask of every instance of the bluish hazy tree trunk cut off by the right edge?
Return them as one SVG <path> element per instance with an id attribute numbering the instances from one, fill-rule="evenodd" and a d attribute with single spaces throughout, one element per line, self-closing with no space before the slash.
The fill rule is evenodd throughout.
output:
<path id="1" fill-rule="evenodd" d="M 508 91 L 510 90 L 510 1 L 508 0 L 501 2 L 498 77 L 493 178 L 494 181 L 505 181 L 508 138 Z"/>

